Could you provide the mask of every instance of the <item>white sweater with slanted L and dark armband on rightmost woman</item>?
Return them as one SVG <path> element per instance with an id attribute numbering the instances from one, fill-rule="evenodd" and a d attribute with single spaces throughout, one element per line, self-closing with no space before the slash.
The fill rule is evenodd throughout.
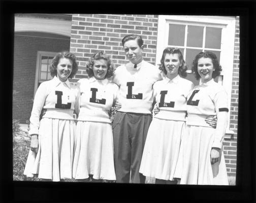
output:
<path id="1" fill-rule="evenodd" d="M 213 79 L 207 83 L 200 81 L 200 84 L 191 90 L 187 98 L 187 125 L 210 127 L 205 122 L 207 116 L 217 115 L 218 117 L 219 112 L 229 111 L 227 92 Z M 225 130 L 225 122 L 217 122 L 212 147 L 222 147 Z"/>

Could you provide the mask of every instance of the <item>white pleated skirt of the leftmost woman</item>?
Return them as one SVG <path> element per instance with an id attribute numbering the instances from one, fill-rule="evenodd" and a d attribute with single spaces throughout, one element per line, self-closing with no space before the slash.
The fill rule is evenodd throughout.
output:
<path id="1" fill-rule="evenodd" d="M 38 153 L 29 150 L 24 175 L 60 181 L 72 178 L 75 145 L 74 120 L 42 118 Z"/>

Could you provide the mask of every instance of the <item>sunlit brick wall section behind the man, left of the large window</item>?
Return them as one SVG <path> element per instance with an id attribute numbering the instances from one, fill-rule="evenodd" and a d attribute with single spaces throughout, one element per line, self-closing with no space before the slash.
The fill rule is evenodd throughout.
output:
<path id="1" fill-rule="evenodd" d="M 143 58 L 155 64 L 156 15 L 73 14 L 70 51 L 75 53 L 79 71 L 72 82 L 86 77 L 86 61 L 98 51 L 110 55 L 116 67 L 126 63 L 121 40 L 138 34 L 144 40 Z"/>

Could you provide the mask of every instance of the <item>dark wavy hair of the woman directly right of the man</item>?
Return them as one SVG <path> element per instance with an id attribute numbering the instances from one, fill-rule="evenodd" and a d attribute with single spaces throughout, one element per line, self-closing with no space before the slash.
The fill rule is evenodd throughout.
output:
<path id="1" fill-rule="evenodd" d="M 161 64 L 158 64 L 159 70 L 163 71 L 165 73 L 165 75 L 167 75 L 167 71 L 165 69 L 166 54 L 179 54 L 179 61 L 180 61 L 181 65 L 179 66 L 178 74 L 179 74 L 179 76 L 185 78 L 187 76 L 187 73 L 186 73 L 187 67 L 185 65 L 185 61 L 183 59 L 182 52 L 180 51 L 179 48 L 174 48 L 174 47 L 165 48 L 165 50 L 163 51 L 162 58 L 160 60 Z"/>

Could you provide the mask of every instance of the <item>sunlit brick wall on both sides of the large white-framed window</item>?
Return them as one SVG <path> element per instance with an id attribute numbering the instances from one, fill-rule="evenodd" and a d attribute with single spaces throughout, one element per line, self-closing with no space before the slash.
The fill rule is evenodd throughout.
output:
<path id="1" fill-rule="evenodd" d="M 157 15 L 97 15 L 74 14 L 72 17 L 70 51 L 75 53 L 79 71 L 75 79 L 86 76 L 86 61 L 93 53 L 104 51 L 109 54 L 116 66 L 126 63 L 121 39 L 128 34 L 138 34 L 144 39 L 144 59 L 155 64 Z M 237 151 L 237 112 L 239 83 L 239 17 L 236 19 L 234 50 L 233 86 L 231 98 L 230 129 L 235 133 L 223 142 L 224 154 L 229 175 L 236 174 Z"/>

